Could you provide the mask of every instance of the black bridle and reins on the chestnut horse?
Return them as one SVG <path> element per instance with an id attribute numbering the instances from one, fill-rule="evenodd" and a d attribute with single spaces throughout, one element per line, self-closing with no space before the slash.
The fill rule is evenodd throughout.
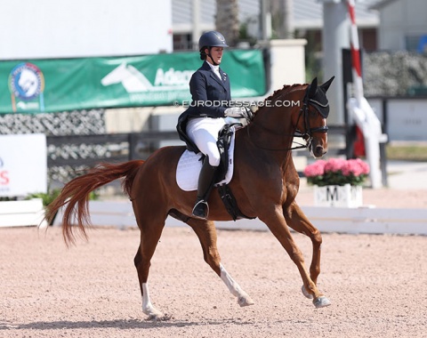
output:
<path id="1" fill-rule="evenodd" d="M 302 133 L 302 131 L 296 129 L 295 133 L 292 135 L 291 134 L 289 134 L 289 135 L 284 134 L 283 135 L 283 136 L 300 137 L 305 141 L 305 144 L 302 144 L 302 143 L 297 142 L 297 141 L 293 141 L 294 143 L 297 143 L 298 146 L 286 148 L 286 149 L 271 149 L 271 148 L 261 147 L 260 145 L 255 144 L 254 141 L 252 140 L 250 132 L 249 132 L 250 124 L 248 124 L 246 127 L 247 135 L 249 137 L 249 140 L 251 140 L 254 143 L 254 146 L 256 148 L 259 148 L 259 149 L 270 150 L 270 151 L 286 151 L 286 150 L 294 150 L 294 149 L 307 149 L 310 147 L 311 141 L 313 140 L 312 133 L 327 133 L 327 131 L 329 130 L 329 127 L 327 125 L 322 125 L 322 126 L 319 126 L 316 128 L 310 128 L 310 118 L 309 118 L 310 110 L 309 110 L 309 108 L 310 108 L 310 103 L 311 103 L 311 106 L 314 107 L 318 111 L 318 114 L 320 114 L 322 117 L 325 117 L 324 114 L 320 111 L 320 109 L 328 108 L 329 103 L 322 104 L 319 101 L 310 99 L 309 93 L 310 93 L 310 85 L 305 90 L 304 98 L 302 100 L 302 108 L 300 109 L 300 113 L 298 114 L 298 118 L 296 120 L 296 125 L 298 125 L 298 123 L 300 122 L 300 119 L 303 118 L 305 132 Z M 263 126 L 262 126 L 262 128 L 266 129 Z"/>

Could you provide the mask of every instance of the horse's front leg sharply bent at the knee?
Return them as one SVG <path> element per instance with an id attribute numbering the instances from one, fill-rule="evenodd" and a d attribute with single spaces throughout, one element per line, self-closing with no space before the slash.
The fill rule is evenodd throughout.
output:
<path id="1" fill-rule="evenodd" d="M 310 278 L 317 285 L 318 275 L 320 274 L 320 249 L 322 245 L 322 235 L 320 234 L 320 231 L 311 224 L 307 216 L 305 216 L 299 205 L 295 202 L 292 205 L 289 205 L 287 209 L 284 208 L 283 214 L 289 227 L 310 237 L 311 244 L 313 245 L 313 254 L 310 264 Z M 302 294 L 307 298 L 313 298 L 312 294 L 308 292 L 305 286 L 302 286 Z M 318 300 L 318 305 L 316 303 L 315 305 L 317 307 L 327 306 L 330 302 L 326 301 L 327 299 L 322 298 Z"/>

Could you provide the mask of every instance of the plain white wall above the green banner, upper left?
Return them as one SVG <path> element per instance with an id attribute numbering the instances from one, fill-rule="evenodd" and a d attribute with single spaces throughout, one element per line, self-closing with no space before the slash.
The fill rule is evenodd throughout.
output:
<path id="1" fill-rule="evenodd" d="M 2 0 L 0 60 L 172 52 L 171 0 Z"/>

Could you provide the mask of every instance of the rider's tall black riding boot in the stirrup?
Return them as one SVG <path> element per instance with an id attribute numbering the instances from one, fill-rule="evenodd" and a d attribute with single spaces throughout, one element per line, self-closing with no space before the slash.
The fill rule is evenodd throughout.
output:
<path id="1" fill-rule="evenodd" d="M 207 205 L 207 199 L 211 194 L 211 190 L 214 187 L 215 173 L 217 166 L 209 165 L 209 158 L 206 156 L 202 165 L 202 170 L 198 176 L 197 185 L 197 200 L 196 205 L 193 208 L 193 216 L 206 220 L 209 213 L 209 206 Z"/>

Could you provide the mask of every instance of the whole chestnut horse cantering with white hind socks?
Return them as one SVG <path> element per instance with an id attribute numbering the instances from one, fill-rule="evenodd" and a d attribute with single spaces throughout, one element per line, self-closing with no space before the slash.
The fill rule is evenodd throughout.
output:
<path id="1" fill-rule="evenodd" d="M 330 305 L 316 286 L 320 273 L 322 237 L 296 204 L 300 179 L 294 167 L 292 144 L 295 135 L 306 142 L 313 157 L 322 157 L 327 150 L 326 117 L 329 112 L 326 91 L 333 78 L 325 84 L 317 79 L 309 84 L 286 85 L 264 101 L 253 121 L 236 132 L 235 168 L 230 189 L 240 211 L 258 217 L 285 248 L 302 277 L 302 293 L 313 299 L 317 308 Z M 296 133 L 296 134 L 295 134 Z M 216 245 L 214 221 L 231 221 L 219 194 L 209 199 L 207 221 L 192 218 L 196 191 L 183 191 L 176 182 L 175 172 L 185 147 L 157 149 L 146 161 L 133 160 L 123 164 L 102 164 L 69 181 L 46 211 L 46 219 L 64 206 L 62 233 L 67 244 L 75 243 L 73 224 L 82 235 L 90 225 L 89 194 L 102 185 L 124 178 L 123 189 L 132 201 L 136 222 L 141 230 L 141 243 L 134 258 L 141 287 L 142 311 L 152 319 L 163 318 L 149 297 L 149 266 L 168 215 L 186 222 L 194 229 L 202 245 L 205 262 L 238 298 L 240 306 L 254 302 L 222 265 Z M 294 243 L 289 227 L 310 237 L 312 258 L 310 270 L 302 252 Z"/>

